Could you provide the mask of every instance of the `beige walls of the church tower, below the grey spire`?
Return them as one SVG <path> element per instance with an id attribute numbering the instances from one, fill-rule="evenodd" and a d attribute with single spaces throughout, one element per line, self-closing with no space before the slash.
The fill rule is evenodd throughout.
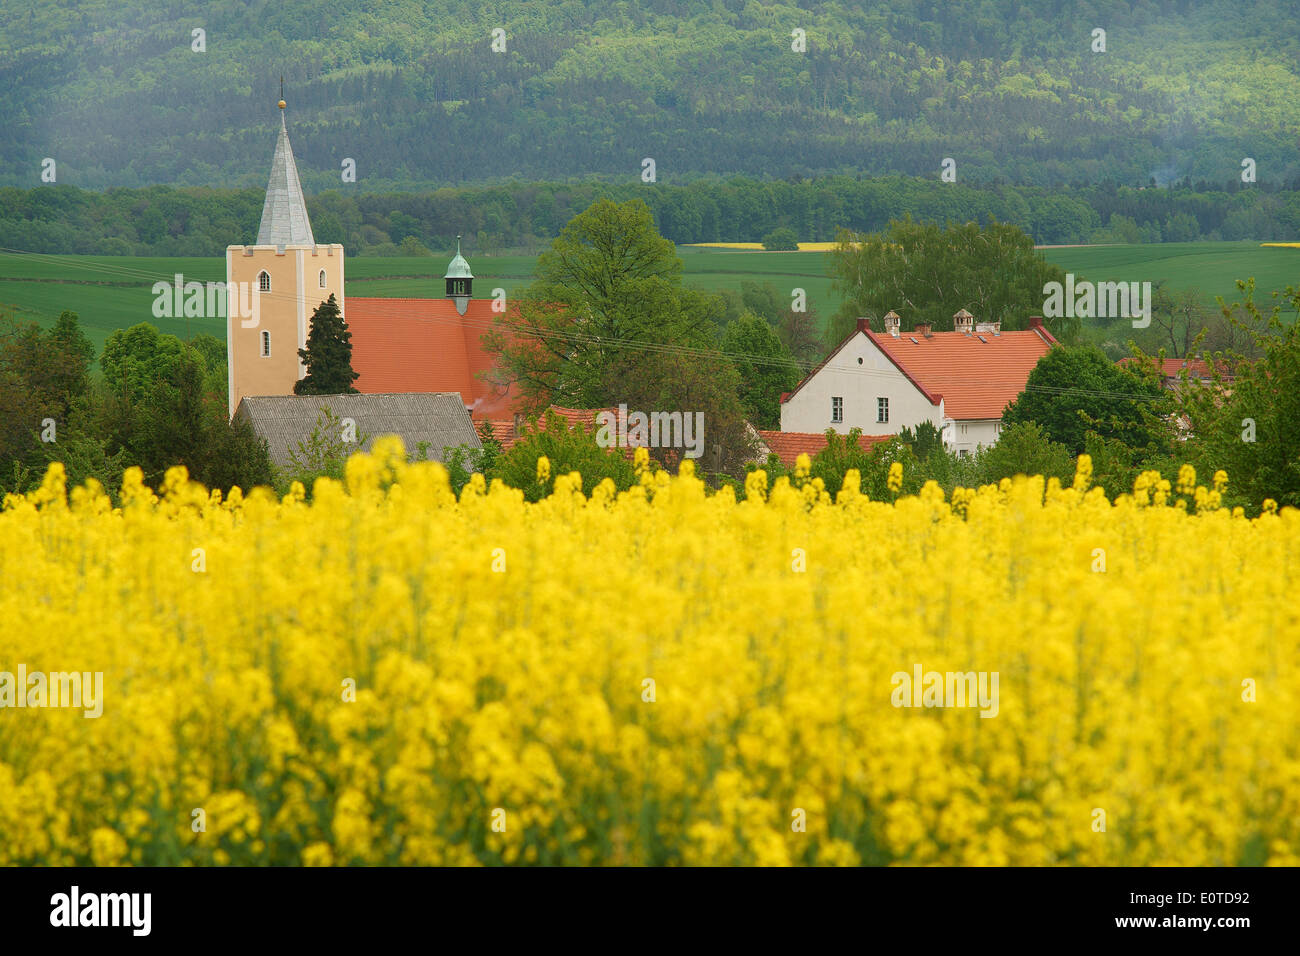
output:
<path id="1" fill-rule="evenodd" d="M 320 273 L 325 285 L 320 285 Z M 239 284 L 254 290 L 257 277 L 270 276 L 270 291 L 257 297 L 254 316 L 239 316 Z M 339 308 L 343 298 L 343 247 L 332 246 L 228 246 L 226 247 L 226 351 L 229 356 L 230 415 L 246 395 L 291 395 L 307 369 L 298 350 L 307 347 L 312 312 L 332 294 Z M 247 295 L 246 295 L 247 298 Z M 261 354 L 261 333 L 270 333 L 270 355 Z"/>

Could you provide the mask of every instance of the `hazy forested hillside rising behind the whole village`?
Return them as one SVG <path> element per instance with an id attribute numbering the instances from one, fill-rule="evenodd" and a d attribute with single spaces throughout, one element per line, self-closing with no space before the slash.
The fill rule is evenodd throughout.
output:
<path id="1" fill-rule="evenodd" d="M 1294 0 L 6 0 L 0 182 L 1300 177 Z M 491 31 L 504 30 L 494 52 Z M 1093 52 L 1092 31 L 1106 31 Z M 806 31 L 806 52 L 792 31 Z M 195 52 L 194 31 L 204 51 Z"/>

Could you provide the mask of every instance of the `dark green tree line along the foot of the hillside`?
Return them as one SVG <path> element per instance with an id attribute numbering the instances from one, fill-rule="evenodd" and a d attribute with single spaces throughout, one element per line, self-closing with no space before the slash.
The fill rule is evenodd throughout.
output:
<path id="1" fill-rule="evenodd" d="M 422 255 L 543 248 L 601 199 L 641 199 L 676 243 L 759 242 L 793 232 L 828 242 L 840 229 L 874 232 L 906 215 L 920 221 L 996 219 L 1039 245 L 1082 242 L 1290 241 L 1300 237 L 1292 187 L 1180 181 L 1166 189 L 940 183 L 906 177 L 771 181 L 536 182 L 425 193 L 307 198 L 317 242 L 348 255 Z M 220 256 L 257 234 L 263 189 L 150 186 L 94 193 L 73 186 L 0 187 L 0 248 L 58 255 Z"/>

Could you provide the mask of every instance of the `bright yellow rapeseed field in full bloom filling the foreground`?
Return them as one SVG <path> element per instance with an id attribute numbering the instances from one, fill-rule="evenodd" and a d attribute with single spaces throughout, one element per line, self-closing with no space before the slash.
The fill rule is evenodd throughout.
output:
<path id="1" fill-rule="evenodd" d="M 1300 864 L 1295 510 L 549 471 L 8 497 L 0 864 Z"/>

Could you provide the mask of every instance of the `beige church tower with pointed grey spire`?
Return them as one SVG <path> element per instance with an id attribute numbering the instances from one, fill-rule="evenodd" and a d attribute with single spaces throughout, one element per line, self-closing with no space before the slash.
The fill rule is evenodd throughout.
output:
<path id="1" fill-rule="evenodd" d="M 330 295 L 346 316 L 343 246 L 316 245 L 280 100 L 280 138 L 257 239 L 226 247 L 231 418 L 246 395 L 294 393 L 294 384 L 307 375 L 298 350 L 307 347 L 312 312 Z"/>

